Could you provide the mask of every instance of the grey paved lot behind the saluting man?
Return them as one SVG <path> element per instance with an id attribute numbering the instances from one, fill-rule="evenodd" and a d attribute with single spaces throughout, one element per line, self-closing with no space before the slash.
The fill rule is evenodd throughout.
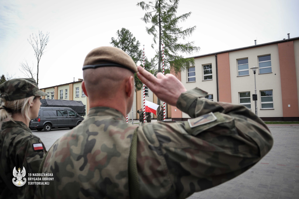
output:
<path id="1" fill-rule="evenodd" d="M 138 124 L 136 124 L 138 125 Z M 274 137 L 271 151 L 251 169 L 214 188 L 197 192 L 188 199 L 298 199 L 299 126 L 270 126 Z M 46 149 L 70 129 L 33 131 Z"/>

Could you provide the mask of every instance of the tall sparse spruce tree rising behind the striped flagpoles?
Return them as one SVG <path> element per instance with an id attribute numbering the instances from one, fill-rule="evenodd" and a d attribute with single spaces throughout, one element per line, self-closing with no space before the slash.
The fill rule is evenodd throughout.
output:
<path id="1" fill-rule="evenodd" d="M 194 42 L 185 42 L 185 39 L 192 35 L 196 26 L 187 29 L 179 27 L 179 22 L 184 22 L 191 15 L 191 12 L 176 16 L 179 0 L 156 0 L 149 3 L 142 1 L 137 6 L 147 11 L 142 20 L 151 24 L 150 27 L 146 27 L 146 30 L 149 35 L 153 36 L 152 48 L 158 42 L 157 54 L 155 56 L 158 59 L 158 71 L 161 71 L 162 41 L 164 43 L 164 68 L 167 68 L 169 71 L 171 66 L 171 69 L 178 73 L 194 65 L 193 58 L 184 58 L 179 54 L 191 54 L 200 49 L 194 46 Z M 160 104 L 159 99 L 158 104 Z"/>

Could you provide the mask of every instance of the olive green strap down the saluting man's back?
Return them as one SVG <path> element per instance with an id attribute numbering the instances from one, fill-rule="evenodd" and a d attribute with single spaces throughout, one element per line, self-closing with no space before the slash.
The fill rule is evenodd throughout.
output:
<path id="1" fill-rule="evenodd" d="M 139 198 L 139 178 L 137 172 L 137 128 L 134 131 L 129 154 L 129 194 L 130 199 Z"/>

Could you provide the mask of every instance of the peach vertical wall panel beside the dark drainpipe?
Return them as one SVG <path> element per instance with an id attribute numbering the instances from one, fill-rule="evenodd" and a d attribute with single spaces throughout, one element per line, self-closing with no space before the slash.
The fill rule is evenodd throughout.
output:
<path id="1" fill-rule="evenodd" d="M 231 75 L 229 66 L 229 54 L 221 53 L 217 55 L 218 64 L 218 85 L 219 102 L 231 103 Z"/>

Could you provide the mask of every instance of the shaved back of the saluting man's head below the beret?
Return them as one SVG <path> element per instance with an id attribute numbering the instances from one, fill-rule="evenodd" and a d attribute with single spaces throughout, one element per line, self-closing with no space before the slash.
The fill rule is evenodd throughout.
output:
<path id="1" fill-rule="evenodd" d="M 88 97 L 99 99 L 112 99 L 116 92 L 125 93 L 125 82 L 134 74 L 120 67 L 100 67 L 83 71 Z M 134 79 L 134 78 L 133 78 Z"/>

